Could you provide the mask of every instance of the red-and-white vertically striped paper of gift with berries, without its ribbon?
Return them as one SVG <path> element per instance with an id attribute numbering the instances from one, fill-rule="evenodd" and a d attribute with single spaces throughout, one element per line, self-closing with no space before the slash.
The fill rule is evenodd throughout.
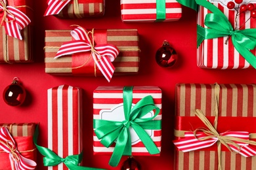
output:
<path id="1" fill-rule="evenodd" d="M 229 10 L 223 7 L 220 3 L 213 3 L 218 7 L 228 18 L 233 27 L 235 27 L 235 10 Z M 206 14 L 210 11 L 204 7 L 199 8 L 198 12 L 198 24 L 205 27 L 204 20 Z M 238 16 L 237 23 L 241 29 L 255 28 L 256 20 L 250 18 L 250 12 L 242 13 Z M 245 21 L 248 20 L 245 23 Z M 217 39 L 204 40 L 198 47 L 198 67 L 208 69 L 245 69 L 252 67 L 249 63 L 238 53 L 232 44 L 232 40 L 229 39 L 228 43 L 225 44 L 227 37 L 220 37 Z M 255 55 L 255 50 L 251 50 Z"/>

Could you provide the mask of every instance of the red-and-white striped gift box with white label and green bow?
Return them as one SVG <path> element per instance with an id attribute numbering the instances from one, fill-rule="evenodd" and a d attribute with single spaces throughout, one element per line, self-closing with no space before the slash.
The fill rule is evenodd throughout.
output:
<path id="1" fill-rule="evenodd" d="M 93 118 L 94 154 L 112 154 L 110 165 L 116 166 L 122 155 L 160 155 L 160 88 L 99 86 L 93 92 Z"/>

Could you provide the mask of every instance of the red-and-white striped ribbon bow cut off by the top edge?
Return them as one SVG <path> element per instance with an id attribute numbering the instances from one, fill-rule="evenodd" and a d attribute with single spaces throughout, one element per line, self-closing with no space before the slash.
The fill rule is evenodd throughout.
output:
<path id="1" fill-rule="evenodd" d="M 60 11 L 64 9 L 68 3 L 70 3 L 70 1 L 71 0 L 48 0 L 48 7 L 45 10 L 44 16 L 59 14 Z M 77 0 L 74 0 L 74 12 L 77 18 L 82 18 L 82 16 L 79 14 L 79 6 Z"/>

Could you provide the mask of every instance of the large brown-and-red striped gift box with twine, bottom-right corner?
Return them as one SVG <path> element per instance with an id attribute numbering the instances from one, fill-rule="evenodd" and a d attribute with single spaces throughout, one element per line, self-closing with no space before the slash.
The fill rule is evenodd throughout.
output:
<path id="1" fill-rule="evenodd" d="M 255 93 L 255 84 L 177 84 L 175 169 L 255 169 L 256 146 L 241 141 L 255 144 Z M 218 138 L 229 140 L 228 136 L 236 137 L 227 144 L 231 151 L 218 143 Z"/>

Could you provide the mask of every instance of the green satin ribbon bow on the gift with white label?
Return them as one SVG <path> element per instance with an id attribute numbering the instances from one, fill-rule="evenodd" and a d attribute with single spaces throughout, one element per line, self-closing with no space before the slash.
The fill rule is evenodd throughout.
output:
<path id="1" fill-rule="evenodd" d="M 160 109 L 155 106 L 153 98 L 148 95 L 132 108 L 133 87 L 123 88 L 123 114 L 125 120 L 93 120 L 95 134 L 107 148 L 116 141 L 116 147 L 110 158 L 109 164 L 116 167 L 121 156 L 131 156 L 131 135 L 129 127 L 132 127 L 150 154 L 159 154 L 160 150 L 152 141 L 144 129 L 161 129 L 161 120 L 153 120 L 158 116 Z M 148 112 L 156 110 L 151 118 L 142 118 Z"/>

